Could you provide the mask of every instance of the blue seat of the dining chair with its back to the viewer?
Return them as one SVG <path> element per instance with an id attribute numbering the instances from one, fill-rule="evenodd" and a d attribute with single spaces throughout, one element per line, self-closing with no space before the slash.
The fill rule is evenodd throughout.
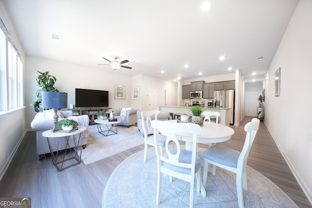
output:
<path id="1" fill-rule="evenodd" d="M 176 148 L 172 148 L 169 151 L 172 154 L 176 154 Z M 180 152 L 179 162 L 191 164 L 192 163 L 192 151 L 187 151 L 187 150 L 182 150 L 182 149 L 180 151 L 181 152 Z M 168 158 L 167 152 L 165 152 L 163 156 Z M 203 158 L 199 154 L 196 153 L 195 172 L 197 172 L 197 170 L 200 169 L 202 160 L 203 160 Z M 166 167 L 170 170 L 174 170 L 176 172 L 189 174 L 189 175 L 191 174 L 191 169 L 188 169 L 188 168 L 182 168 L 182 167 L 174 166 L 174 165 L 171 165 L 171 164 L 166 163 L 166 162 L 162 162 L 162 166 Z"/>

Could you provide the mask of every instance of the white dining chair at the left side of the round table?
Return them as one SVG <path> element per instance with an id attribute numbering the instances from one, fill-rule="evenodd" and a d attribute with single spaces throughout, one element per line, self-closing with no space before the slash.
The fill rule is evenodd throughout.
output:
<path id="1" fill-rule="evenodd" d="M 143 135 L 144 135 L 144 163 L 146 162 L 147 157 L 147 150 L 148 145 L 155 147 L 154 144 L 154 136 L 150 134 L 154 134 L 154 130 L 152 128 L 152 118 L 151 116 L 155 116 L 155 120 L 157 120 L 157 115 L 160 111 L 142 111 L 141 112 L 141 119 L 142 119 L 142 128 L 143 128 Z M 166 136 L 162 134 L 157 134 L 158 137 L 158 144 L 160 148 L 161 155 L 163 154 L 163 148 L 165 147 Z"/>

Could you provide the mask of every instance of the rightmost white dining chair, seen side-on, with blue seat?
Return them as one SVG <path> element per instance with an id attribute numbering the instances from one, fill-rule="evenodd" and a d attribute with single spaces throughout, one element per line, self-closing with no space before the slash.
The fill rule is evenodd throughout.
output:
<path id="1" fill-rule="evenodd" d="M 215 175 L 216 166 L 225 170 L 236 173 L 236 190 L 238 206 L 244 207 L 243 200 L 243 188 L 247 190 L 247 158 L 249 151 L 253 145 L 254 137 L 259 129 L 260 120 L 253 118 L 251 122 L 245 125 L 246 139 L 241 152 L 233 150 L 231 148 L 214 145 L 209 147 L 202 156 L 204 157 L 204 173 L 203 173 L 203 184 L 207 184 L 207 174 L 209 164 L 213 165 L 213 175 Z"/>

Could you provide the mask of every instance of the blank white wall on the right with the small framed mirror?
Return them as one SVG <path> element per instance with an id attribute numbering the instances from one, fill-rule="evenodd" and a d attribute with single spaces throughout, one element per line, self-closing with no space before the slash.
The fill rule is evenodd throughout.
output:
<path id="1" fill-rule="evenodd" d="M 300 0 L 265 80 L 265 123 L 312 203 L 312 0 Z M 281 67 L 280 96 L 274 73 Z"/>

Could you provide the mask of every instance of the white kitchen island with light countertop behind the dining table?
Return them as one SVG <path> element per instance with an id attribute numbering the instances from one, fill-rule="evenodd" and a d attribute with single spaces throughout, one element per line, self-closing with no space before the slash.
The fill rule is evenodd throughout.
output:
<path id="1" fill-rule="evenodd" d="M 158 106 L 157 110 L 161 112 L 169 112 L 169 113 L 185 113 L 192 115 L 190 110 L 192 106 Z M 203 107 L 204 111 L 215 111 L 220 113 L 219 124 L 223 124 L 226 126 L 230 126 L 230 113 L 231 108 L 214 108 L 214 107 Z"/>

